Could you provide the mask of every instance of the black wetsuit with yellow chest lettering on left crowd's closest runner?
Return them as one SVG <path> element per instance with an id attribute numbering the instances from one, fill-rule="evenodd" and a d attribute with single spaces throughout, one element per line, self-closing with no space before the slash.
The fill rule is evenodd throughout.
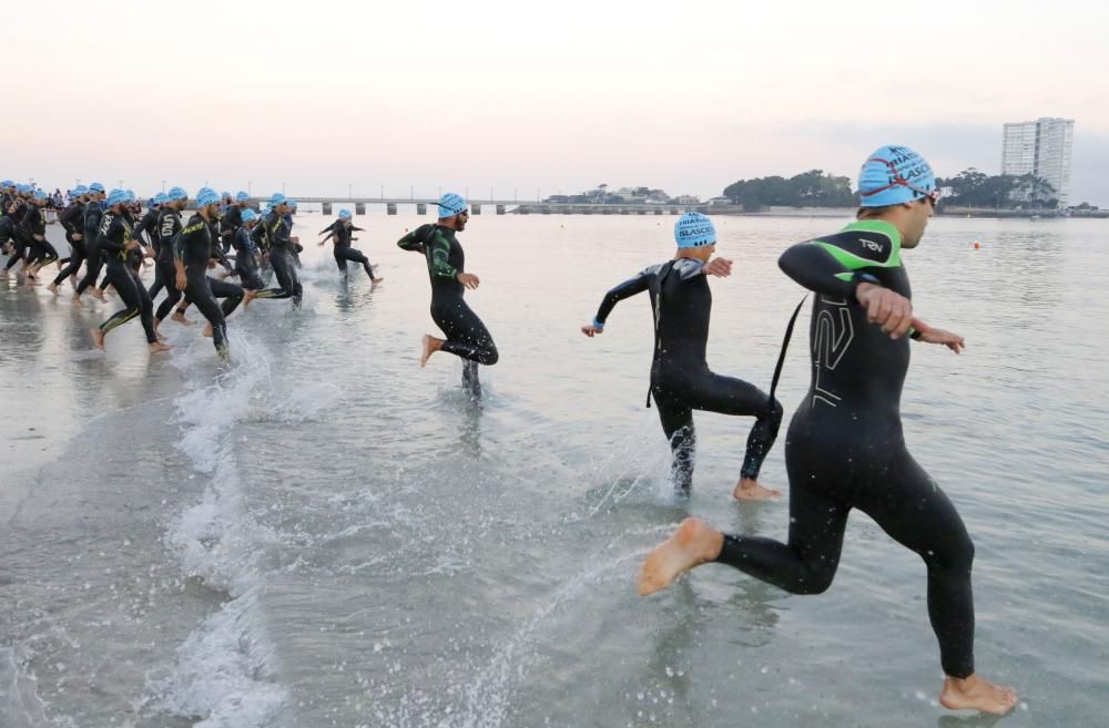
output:
<path id="1" fill-rule="evenodd" d="M 221 356 L 227 356 L 226 316 L 243 300 L 243 289 L 233 284 L 212 280 L 207 277 L 208 262 L 213 257 L 212 228 L 199 214 L 189 218 L 173 244 L 175 259 L 185 267 L 185 297 L 196 306 L 212 325 L 212 341 Z M 223 308 L 215 297 L 225 298 Z"/>

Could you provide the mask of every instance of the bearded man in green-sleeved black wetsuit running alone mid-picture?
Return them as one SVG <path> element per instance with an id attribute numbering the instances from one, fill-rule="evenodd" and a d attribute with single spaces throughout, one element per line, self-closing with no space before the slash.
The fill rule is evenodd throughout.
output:
<path id="1" fill-rule="evenodd" d="M 491 367 L 500 355 L 497 345 L 478 315 L 462 299 L 466 288 L 475 289 L 481 283 L 472 273 L 465 273 L 466 255 L 455 233 L 466 229 L 470 213 L 460 195 L 447 193 L 439 198 L 439 222 L 421 225 L 405 235 L 397 245 L 405 250 L 423 253 L 431 279 L 431 320 L 447 335 L 446 339 L 424 335 L 424 351 L 419 366 L 428 358 L 446 351 L 466 361 L 462 366 L 462 384 L 471 397 L 480 399 L 481 382 L 478 365 Z"/>

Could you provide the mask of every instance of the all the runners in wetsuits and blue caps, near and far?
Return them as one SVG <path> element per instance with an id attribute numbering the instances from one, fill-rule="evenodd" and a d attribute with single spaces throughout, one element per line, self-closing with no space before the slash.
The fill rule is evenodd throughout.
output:
<path id="1" fill-rule="evenodd" d="M 269 199 L 269 212 L 260 218 L 245 206 L 242 195 L 221 199 L 205 188 L 196 195 L 196 211 L 182 224 L 187 197 L 180 188 L 155 198 L 138 223 L 130 193 L 113 191 L 105 199 L 103 188 L 96 185 L 75 192 L 78 202 L 59 215 L 73 253 L 52 289 L 74 276 L 84 259 L 89 269 L 74 293 L 74 301 L 80 301 L 81 294 L 95 283 L 103 256 L 109 268 L 106 284 L 128 307 L 102 324 L 99 334 L 94 330 L 93 339 L 100 346 L 114 326 L 140 316 L 151 349 L 164 348 L 156 338 L 157 325 L 180 301 L 174 316 L 183 316 L 183 307 L 195 304 L 208 319 L 217 350 L 225 352 L 225 318 L 240 301 L 299 301 L 297 238 L 289 235 L 289 201 L 282 195 Z M 974 545 L 950 500 L 909 454 L 899 411 L 909 342 L 943 345 L 955 353 L 965 345 L 963 337 L 932 327 L 914 314 L 908 275 L 902 265 L 903 252 L 917 247 L 939 198 L 935 176 L 916 152 L 884 146 L 863 164 L 858 194 L 856 222 L 794 245 L 779 260 L 783 273 L 813 297 L 811 386 L 793 414 L 785 444 L 787 541 L 724 533 L 701 520 L 686 519 L 648 555 L 639 575 L 639 592 L 653 594 L 692 568 L 720 563 L 793 594 L 820 594 L 832 584 L 847 516 L 858 509 L 925 564 L 928 616 L 945 674 L 940 703 L 952 709 L 1001 715 L 1016 705 L 1016 693 L 980 677 L 974 662 Z M 58 258 L 44 244 L 42 225 L 33 212 L 40 201 L 37 195 L 23 199 L 19 205 L 27 209 L 20 214 L 10 212 L 10 195 L 6 193 L 3 199 L 9 211 L 4 219 L 24 221 L 26 233 L 19 242 L 14 242 L 14 234 L 4 233 L 7 237 L 0 242 L 14 242 L 13 259 L 22 256 L 28 277 L 33 277 Z M 442 338 L 424 337 L 420 366 L 437 351 L 461 358 L 464 383 L 479 398 L 478 366 L 497 363 L 499 353 L 489 330 L 464 298 L 467 289 L 480 284 L 476 275 L 466 271 L 457 238 L 468 219 L 466 201 L 448 193 L 439 201 L 438 221 L 406 234 L 398 246 L 425 256 L 431 318 L 444 334 Z M 0 232 L 6 229 L 0 227 Z M 325 230 L 335 242 L 336 262 L 340 269 L 347 260 L 357 262 L 372 279 L 379 280 L 365 256 L 349 247 L 356 230 L 345 211 Z M 703 410 L 754 418 L 733 495 L 743 501 L 776 499 L 777 491 L 759 482 L 760 468 L 783 418 L 774 384 L 767 393 L 713 372 L 706 362 L 712 307 L 709 278 L 731 275 L 732 262 L 713 257 L 716 232 L 705 215 L 683 215 L 674 237 L 673 258 L 645 267 L 608 291 L 581 331 L 590 338 L 603 334 L 619 301 L 647 291 L 654 328 L 648 406 L 653 400 L 669 439 L 675 488 L 685 494 L 692 489 L 692 413 Z M 225 256 L 231 248 L 235 252 L 233 267 Z M 277 287 L 263 287 L 258 253 L 268 259 Z M 138 276 L 143 256 L 157 260 L 157 276 L 149 291 Z M 233 270 L 241 283 L 208 276 L 213 262 Z M 104 287 L 102 283 L 93 295 L 102 295 Z M 166 298 L 151 312 L 151 301 L 161 289 Z M 215 298 L 224 299 L 222 307 Z M 791 331 L 792 327 L 791 320 Z M 779 371 L 781 363 L 780 358 Z"/>

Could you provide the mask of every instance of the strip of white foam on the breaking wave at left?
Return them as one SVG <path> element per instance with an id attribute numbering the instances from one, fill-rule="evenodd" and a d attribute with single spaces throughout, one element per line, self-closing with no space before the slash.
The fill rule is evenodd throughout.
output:
<path id="1" fill-rule="evenodd" d="M 246 352 L 244 360 L 175 402 L 179 448 L 199 474 L 211 478 L 166 542 L 186 577 L 231 598 L 177 648 L 175 670 L 151 683 L 149 701 L 172 715 L 200 718 L 197 728 L 268 725 L 287 697 L 276 678 L 277 656 L 260 599 L 265 582 L 260 562 L 277 537 L 244 505 L 231 435 L 235 423 L 251 417 L 256 394 L 269 382 L 269 367 L 264 352 L 238 338 L 232 346 Z"/>

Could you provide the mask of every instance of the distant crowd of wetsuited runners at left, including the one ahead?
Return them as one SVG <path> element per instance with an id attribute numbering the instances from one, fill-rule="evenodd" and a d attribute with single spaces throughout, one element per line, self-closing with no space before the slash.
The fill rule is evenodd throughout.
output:
<path id="1" fill-rule="evenodd" d="M 96 348 L 104 348 L 112 330 L 139 318 L 150 351 L 165 351 L 170 347 L 159 331 L 162 321 L 170 317 L 191 324 L 186 310 L 195 306 L 207 319 L 204 336 L 212 337 L 220 356 L 227 357 L 226 319 L 240 304 L 245 308 L 256 298 L 268 298 L 301 305 L 297 268 L 303 246 L 292 235 L 296 203 L 283 194 L 269 197 L 267 212 L 258 214 L 245 192 L 221 195 L 203 187 L 191 201 L 185 189 L 172 187 L 149 199 L 144 209 L 130 189 L 106 191 L 100 183 L 78 186 L 70 191 L 70 203 L 57 211 L 70 247 L 65 258 L 47 239 L 49 202 L 43 191 L 30 185 L 0 182 L 0 245 L 10 256 L 0 277 L 17 275 L 35 285 L 42 269 L 57 264 L 58 275 L 47 288 L 60 295 L 60 286 L 69 280 L 73 305 L 79 307 L 87 293 L 106 303 L 105 291 L 114 290 L 123 308 L 90 329 Z M 190 216 L 183 221 L 185 214 Z M 350 212 L 340 211 L 338 219 L 321 232 L 326 237 L 319 245 L 332 242 L 344 276 L 347 262 L 355 262 L 373 283 L 380 283 L 366 256 L 352 247 L 358 229 Z M 149 286 L 141 278 L 144 267 L 154 268 Z M 267 288 L 264 275 L 272 275 L 277 285 Z"/>

